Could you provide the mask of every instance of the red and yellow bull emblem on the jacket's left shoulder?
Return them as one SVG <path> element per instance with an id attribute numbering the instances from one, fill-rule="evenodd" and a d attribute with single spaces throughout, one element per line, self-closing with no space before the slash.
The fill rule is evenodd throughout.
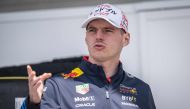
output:
<path id="1" fill-rule="evenodd" d="M 68 74 L 62 73 L 61 75 L 64 77 L 64 79 L 67 79 L 67 78 L 76 78 L 76 77 L 81 76 L 82 74 L 83 74 L 83 71 L 77 67 L 73 69 L 70 73 Z"/>

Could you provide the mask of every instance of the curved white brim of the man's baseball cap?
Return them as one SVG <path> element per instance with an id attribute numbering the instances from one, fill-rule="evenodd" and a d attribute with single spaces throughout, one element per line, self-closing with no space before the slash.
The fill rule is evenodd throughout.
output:
<path id="1" fill-rule="evenodd" d="M 109 20 L 108 18 L 102 17 L 102 16 L 93 16 L 93 17 L 89 17 L 88 19 L 86 19 L 83 23 L 82 23 L 82 28 L 86 28 L 86 26 L 88 25 L 88 23 L 90 23 L 91 21 L 95 20 L 95 19 L 104 19 L 107 22 L 109 22 L 110 24 L 112 24 L 113 26 L 117 27 L 117 28 L 121 28 L 119 25 L 114 24 L 114 22 L 112 22 L 111 20 Z"/>

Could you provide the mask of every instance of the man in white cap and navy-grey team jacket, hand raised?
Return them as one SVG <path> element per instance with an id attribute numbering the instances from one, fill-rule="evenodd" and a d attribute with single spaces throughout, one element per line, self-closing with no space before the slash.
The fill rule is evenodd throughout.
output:
<path id="1" fill-rule="evenodd" d="M 50 74 L 36 77 L 28 66 L 30 97 L 22 107 L 156 109 L 149 86 L 126 73 L 119 61 L 130 40 L 124 13 L 110 4 L 98 5 L 82 27 L 86 28 L 89 56 L 71 72 L 48 79 L 43 95 L 43 81 Z"/>

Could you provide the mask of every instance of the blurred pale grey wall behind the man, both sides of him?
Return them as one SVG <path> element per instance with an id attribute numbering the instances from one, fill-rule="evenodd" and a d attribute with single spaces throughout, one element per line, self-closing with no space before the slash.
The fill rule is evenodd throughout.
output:
<path id="1" fill-rule="evenodd" d="M 0 0 L 0 68 L 88 55 L 81 23 L 104 2 L 129 20 L 126 71 L 150 85 L 157 109 L 190 109 L 190 0 Z"/>

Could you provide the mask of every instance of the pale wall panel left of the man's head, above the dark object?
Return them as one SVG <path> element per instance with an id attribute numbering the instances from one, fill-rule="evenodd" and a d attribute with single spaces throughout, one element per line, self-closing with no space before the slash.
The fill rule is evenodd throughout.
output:
<path id="1" fill-rule="evenodd" d="M 0 14 L 0 66 L 87 54 L 85 16 L 75 9 Z"/>

